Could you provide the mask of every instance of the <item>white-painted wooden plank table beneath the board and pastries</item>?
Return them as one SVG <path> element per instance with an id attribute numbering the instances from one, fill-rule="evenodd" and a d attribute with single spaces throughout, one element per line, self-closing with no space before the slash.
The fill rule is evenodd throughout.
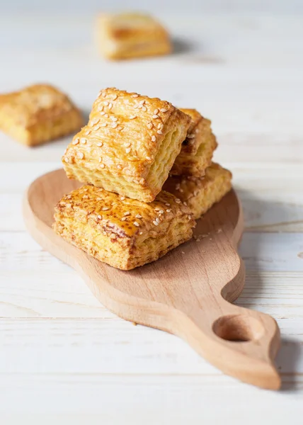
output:
<path id="1" fill-rule="evenodd" d="M 66 415 L 36 418 L 64 425 L 302 424 L 303 19 L 163 21 L 183 40 L 178 53 L 108 63 L 96 55 L 89 16 L 1 15 L 0 92 L 46 81 L 88 113 L 99 89 L 117 86 L 212 119 L 215 159 L 233 171 L 246 217 L 247 279 L 237 302 L 277 319 L 282 390 L 222 375 L 175 336 L 100 305 L 25 232 L 21 215 L 25 188 L 60 166 L 70 137 L 27 149 L 1 134 L 1 424 L 33 424 L 34 413 Z"/>

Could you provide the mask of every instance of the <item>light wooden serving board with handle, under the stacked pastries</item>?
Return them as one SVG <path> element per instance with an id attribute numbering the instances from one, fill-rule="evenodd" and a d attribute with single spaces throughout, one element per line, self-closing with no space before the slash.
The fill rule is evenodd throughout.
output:
<path id="1" fill-rule="evenodd" d="M 228 375 L 278 389 L 280 377 L 273 365 L 278 325 L 267 314 L 231 304 L 245 279 L 236 251 L 244 222 L 234 190 L 198 220 L 195 238 L 154 263 L 120 271 L 52 231 L 55 204 L 79 186 L 59 169 L 28 188 L 25 223 L 43 249 L 79 272 L 93 295 L 118 316 L 180 336 Z"/>

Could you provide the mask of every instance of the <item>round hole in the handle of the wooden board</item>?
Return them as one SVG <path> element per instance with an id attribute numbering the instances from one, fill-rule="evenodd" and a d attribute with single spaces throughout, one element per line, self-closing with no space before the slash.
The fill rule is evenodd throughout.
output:
<path id="1" fill-rule="evenodd" d="M 264 327 L 254 317 L 234 314 L 219 317 L 213 324 L 212 330 L 219 338 L 226 341 L 246 342 L 260 338 Z"/>

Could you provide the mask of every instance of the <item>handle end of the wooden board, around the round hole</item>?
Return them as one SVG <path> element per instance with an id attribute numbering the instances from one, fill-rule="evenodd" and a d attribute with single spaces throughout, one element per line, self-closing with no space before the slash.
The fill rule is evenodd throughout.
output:
<path id="1" fill-rule="evenodd" d="M 210 363 L 244 382 L 280 388 L 273 363 L 280 331 L 273 317 L 233 305 L 219 294 L 212 309 L 194 309 L 190 321 L 185 339 Z"/>

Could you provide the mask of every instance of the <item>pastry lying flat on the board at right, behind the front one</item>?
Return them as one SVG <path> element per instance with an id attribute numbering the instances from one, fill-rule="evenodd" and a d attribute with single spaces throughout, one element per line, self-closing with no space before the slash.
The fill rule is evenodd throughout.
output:
<path id="1" fill-rule="evenodd" d="M 164 183 L 164 191 L 178 196 L 190 208 L 195 219 L 205 214 L 231 189 L 231 172 L 212 163 L 205 177 L 171 176 Z"/>

